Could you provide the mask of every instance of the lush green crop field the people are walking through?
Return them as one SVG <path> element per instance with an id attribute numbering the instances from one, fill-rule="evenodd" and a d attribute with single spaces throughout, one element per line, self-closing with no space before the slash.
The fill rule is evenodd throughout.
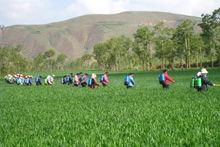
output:
<path id="1" fill-rule="evenodd" d="M 189 88 L 196 71 L 175 71 L 163 90 L 158 72 L 135 74 L 126 89 L 122 73 L 109 87 L 17 86 L 0 81 L 0 146 L 220 146 L 220 87 Z M 220 70 L 209 70 L 220 83 Z"/>

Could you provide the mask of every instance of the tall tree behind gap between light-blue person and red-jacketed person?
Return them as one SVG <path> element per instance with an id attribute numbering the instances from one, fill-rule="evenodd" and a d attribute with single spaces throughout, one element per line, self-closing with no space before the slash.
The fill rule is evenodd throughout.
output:
<path id="1" fill-rule="evenodd" d="M 150 69 L 151 60 L 151 44 L 154 33 L 147 27 L 138 28 L 137 32 L 134 34 L 134 46 L 133 51 L 138 55 L 141 63 L 142 69 Z"/>

